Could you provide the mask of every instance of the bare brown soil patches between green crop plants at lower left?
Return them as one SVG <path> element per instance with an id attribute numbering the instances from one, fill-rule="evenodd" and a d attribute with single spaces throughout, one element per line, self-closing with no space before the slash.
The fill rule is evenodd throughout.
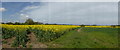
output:
<path id="1" fill-rule="evenodd" d="M 28 34 L 28 39 L 29 41 L 26 44 L 27 48 L 47 48 L 47 45 L 37 41 L 37 38 L 34 35 L 34 33 Z M 2 39 L 1 41 L 5 42 L 1 44 L 2 48 L 14 48 L 14 47 L 11 47 L 12 43 L 14 43 L 14 40 L 15 40 L 15 37 Z M 17 48 L 21 48 L 21 47 L 17 47 Z"/>

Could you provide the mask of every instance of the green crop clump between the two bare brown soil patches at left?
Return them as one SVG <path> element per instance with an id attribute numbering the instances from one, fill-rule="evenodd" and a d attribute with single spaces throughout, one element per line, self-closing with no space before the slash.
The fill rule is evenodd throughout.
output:
<path id="1" fill-rule="evenodd" d="M 26 47 L 26 43 L 27 43 L 28 39 L 27 39 L 27 31 L 26 30 L 18 30 L 16 32 L 16 39 L 13 43 L 13 47 L 18 47 L 19 45 L 22 45 L 22 47 Z"/>

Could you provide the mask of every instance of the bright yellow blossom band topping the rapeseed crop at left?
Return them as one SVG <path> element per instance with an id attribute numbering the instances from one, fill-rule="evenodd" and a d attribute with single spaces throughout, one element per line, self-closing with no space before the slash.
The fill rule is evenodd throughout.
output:
<path id="1" fill-rule="evenodd" d="M 75 25 L 6 25 L 6 24 L 2 24 L 2 28 L 8 28 L 8 29 L 12 29 L 12 30 L 16 30 L 16 29 L 27 29 L 31 27 L 32 29 L 40 29 L 40 30 L 44 30 L 44 31 L 64 31 L 64 30 L 68 30 L 71 28 L 76 28 L 76 27 L 80 27 L 80 26 L 75 26 Z"/>

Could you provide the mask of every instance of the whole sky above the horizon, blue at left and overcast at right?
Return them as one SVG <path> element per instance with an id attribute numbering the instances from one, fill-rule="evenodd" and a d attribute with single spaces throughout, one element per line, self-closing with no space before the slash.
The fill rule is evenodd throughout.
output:
<path id="1" fill-rule="evenodd" d="M 117 2 L 3 2 L 2 22 L 118 24 Z"/>

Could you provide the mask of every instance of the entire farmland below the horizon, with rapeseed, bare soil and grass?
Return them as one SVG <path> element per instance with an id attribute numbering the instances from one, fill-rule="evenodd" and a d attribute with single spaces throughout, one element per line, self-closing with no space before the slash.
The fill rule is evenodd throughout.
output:
<path id="1" fill-rule="evenodd" d="M 3 48 L 118 48 L 119 28 L 46 26 L 5 27 Z"/>

